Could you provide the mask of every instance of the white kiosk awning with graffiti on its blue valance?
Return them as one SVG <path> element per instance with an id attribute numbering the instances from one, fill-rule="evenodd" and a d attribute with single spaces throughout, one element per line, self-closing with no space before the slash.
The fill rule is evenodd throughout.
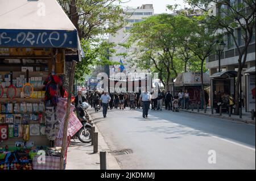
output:
<path id="1" fill-rule="evenodd" d="M 0 0 L 0 47 L 76 48 L 76 27 L 56 0 Z"/>

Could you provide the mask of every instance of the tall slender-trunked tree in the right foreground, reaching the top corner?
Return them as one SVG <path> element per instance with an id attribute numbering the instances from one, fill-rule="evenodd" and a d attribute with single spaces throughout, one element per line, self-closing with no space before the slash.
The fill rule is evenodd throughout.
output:
<path id="1" fill-rule="evenodd" d="M 245 66 L 247 58 L 247 49 L 249 47 L 253 31 L 255 31 L 255 1 L 254 0 L 187 0 L 193 6 L 204 10 L 208 16 L 205 18 L 205 24 L 216 30 L 221 30 L 223 34 L 232 37 L 238 52 L 238 74 L 236 81 L 236 114 L 240 107 L 240 87 L 242 69 Z M 208 6 L 205 9 L 205 5 Z M 213 7 L 218 10 L 216 15 L 212 15 Z M 243 47 L 240 47 L 236 36 L 236 31 L 243 32 Z"/>

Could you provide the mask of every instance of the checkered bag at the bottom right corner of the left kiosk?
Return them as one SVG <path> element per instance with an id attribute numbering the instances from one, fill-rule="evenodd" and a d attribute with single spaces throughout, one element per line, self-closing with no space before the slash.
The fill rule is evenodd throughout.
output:
<path id="1" fill-rule="evenodd" d="M 34 170 L 60 170 L 60 157 L 45 156 L 46 163 L 39 163 L 38 158 L 40 156 L 41 155 L 35 155 L 33 157 L 32 167 Z"/>

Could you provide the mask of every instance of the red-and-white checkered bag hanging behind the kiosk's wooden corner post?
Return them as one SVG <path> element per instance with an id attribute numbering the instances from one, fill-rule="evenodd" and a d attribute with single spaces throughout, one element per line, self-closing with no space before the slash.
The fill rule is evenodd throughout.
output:
<path id="1" fill-rule="evenodd" d="M 80 128 L 82 128 L 82 124 L 80 120 L 77 118 L 77 116 L 74 113 L 74 106 L 71 105 L 70 115 L 69 115 L 69 123 L 68 123 L 68 136 L 74 136 L 76 132 L 79 131 Z M 65 119 L 65 113 L 67 110 L 67 99 L 59 99 L 59 102 L 57 103 L 57 115 L 60 119 L 60 132 L 57 136 L 57 138 L 63 137 L 63 129 L 64 129 L 64 119 Z"/>

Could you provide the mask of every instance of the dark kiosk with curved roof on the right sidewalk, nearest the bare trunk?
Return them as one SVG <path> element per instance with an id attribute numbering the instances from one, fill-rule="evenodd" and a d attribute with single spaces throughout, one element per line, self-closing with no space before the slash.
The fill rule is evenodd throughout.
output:
<path id="1" fill-rule="evenodd" d="M 221 71 L 210 76 L 210 102 L 216 112 L 219 112 L 218 104 L 222 103 L 222 111 L 228 111 L 229 95 L 235 93 L 237 71 Z"/>

